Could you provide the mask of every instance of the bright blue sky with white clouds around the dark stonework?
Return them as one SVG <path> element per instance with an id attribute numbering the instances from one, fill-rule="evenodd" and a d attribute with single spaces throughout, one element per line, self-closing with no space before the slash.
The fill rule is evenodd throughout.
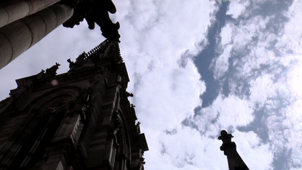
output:
<path id="1" fill-rule="evenodd" d="M 249 169 L 302 169 L 302 1 L 114 3 L 146 170 L 228 169 L 222 129 Z M 104 40 L 87 27 L 60 26 L 0 70 L 0 100 Z"/>

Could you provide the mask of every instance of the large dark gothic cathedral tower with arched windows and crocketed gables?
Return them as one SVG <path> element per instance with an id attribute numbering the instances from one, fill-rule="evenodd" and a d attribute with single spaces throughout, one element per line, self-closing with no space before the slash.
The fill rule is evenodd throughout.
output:
<path id="1" fill-rule="evenodd" d="M 143 170 L 145 135 L 117 41 L 16 80 L 0 102 L 0 170 Z"/>

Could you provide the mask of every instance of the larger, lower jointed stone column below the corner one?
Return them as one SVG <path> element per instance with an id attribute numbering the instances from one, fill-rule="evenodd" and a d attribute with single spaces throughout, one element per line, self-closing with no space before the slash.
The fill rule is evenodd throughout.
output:
<path id="1" fill-rule="evenodd" d="M 0 69 L 68 20 L 72 14 L 73 9 L 69 6 L 54 4 L 0 28 Z"/>

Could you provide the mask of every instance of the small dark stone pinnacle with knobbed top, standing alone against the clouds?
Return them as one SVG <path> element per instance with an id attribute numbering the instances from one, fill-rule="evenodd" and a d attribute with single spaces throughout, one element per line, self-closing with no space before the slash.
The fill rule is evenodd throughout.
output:
<path id="1" fill-rule="evenodd" d="M 218 137 L 219 140 L 222 140 L 220 150 L 223 151 L 224 155 L 226 155 L 229 169 L 249 170 L 236 150 L 236 143 L 232 142 L 232 138 L 234 136 L 232 134 L 228 134 L 225 130 L 222 130 L 220 134 L 221 136 Z"/>

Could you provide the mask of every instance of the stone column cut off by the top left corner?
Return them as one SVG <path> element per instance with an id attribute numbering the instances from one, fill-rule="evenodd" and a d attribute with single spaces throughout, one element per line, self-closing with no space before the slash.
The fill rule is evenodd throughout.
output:
<path id="1" fill-rule="evenodd" d="M 14 0 L 0 5 L 0 27 L 40 11 L 60 0 Z"/>

